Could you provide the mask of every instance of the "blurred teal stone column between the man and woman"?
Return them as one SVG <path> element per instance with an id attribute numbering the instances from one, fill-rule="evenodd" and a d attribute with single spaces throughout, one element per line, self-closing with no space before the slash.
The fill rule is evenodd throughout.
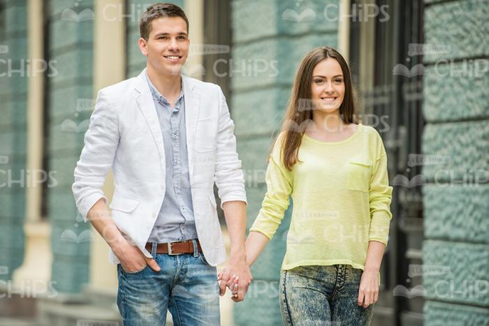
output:
<path id="1" fill-rule="evenodd" d="M 295 71 L 314 47 L 337 47 L 339 10 L 337 0 L 232 2 L 232 60 L 217 68 L 231 77 L 231 115 L 247 182 L 248 229 L 265 195 L 266 158 L 280 128 Z M 254 281 L 247 299 L 234 309 L 237 325 L 283 325 L 278 293 L 290 213 L 291 207 L 251 269 Z"/>

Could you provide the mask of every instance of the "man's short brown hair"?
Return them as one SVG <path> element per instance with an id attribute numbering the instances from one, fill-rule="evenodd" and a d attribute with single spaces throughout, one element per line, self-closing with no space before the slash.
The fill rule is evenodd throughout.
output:
<path id="1" fill-rule="evenodd" d="M 154 3 L 146 8 L 146 11 L 139 20 L 139 33 L 142 38 L 148 40 L 152 30 L 151 22 L 159 17 L 180 17 L 187 23 L 187 33 L 189 33 L 189 20 L 184 10 L 173 3 Z"/>

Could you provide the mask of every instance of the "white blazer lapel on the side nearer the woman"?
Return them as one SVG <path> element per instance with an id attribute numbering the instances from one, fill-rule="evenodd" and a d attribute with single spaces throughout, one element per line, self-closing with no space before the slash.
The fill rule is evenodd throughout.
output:
<path id="1" fill-rule="evenodd" d="M 187 153 L 189 156 L 189 175 L 190 181 L 194 178 L 194 144 L 198 110 L 200 108 L 200 95 L 195 88 L 195 84 L 188 77 L 182 76 L 185 98 L 185 128 L 187 131 Z"/>

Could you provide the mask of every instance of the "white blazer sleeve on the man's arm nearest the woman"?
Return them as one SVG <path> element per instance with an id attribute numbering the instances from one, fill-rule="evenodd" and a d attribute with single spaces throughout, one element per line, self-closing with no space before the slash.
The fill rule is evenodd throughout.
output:
<path id="1" fill-rule="evenodd" d="M 217 127 L 217 147 L 214 181 L 221 198 L 221 208 L 224 202 L 240 200 L 247 202 L 245 192 L 245 177 L 241 161 L 236 151 L 234 123 L 229 114 L 226 98 L 217 86 L 219 94 L 219 124 Z"/>

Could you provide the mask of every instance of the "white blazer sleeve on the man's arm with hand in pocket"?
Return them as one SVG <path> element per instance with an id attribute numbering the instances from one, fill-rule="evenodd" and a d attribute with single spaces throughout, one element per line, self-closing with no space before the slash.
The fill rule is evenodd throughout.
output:
<path id="1" fill-rule="evenodd" d="M 87 222 L 87 214 L 98 200 L 103 198 L 102 186 L 112 167 L 119 144 L 119 129 L 115 108 L 99 91 L 90 124 L 85 133 L 84 147 L 76 163 L 75 182 L 71 187 L 76 207 Z"/>

